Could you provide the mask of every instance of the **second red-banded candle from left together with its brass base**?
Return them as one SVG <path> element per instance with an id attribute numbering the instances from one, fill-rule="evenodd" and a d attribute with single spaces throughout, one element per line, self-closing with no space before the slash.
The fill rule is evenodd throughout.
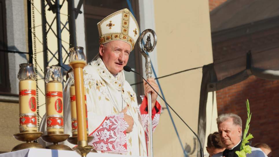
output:
<path id="1" fill-rule="evenodd" d="M 66 145 L 58 144 L 67 140 L 69 134 L 64 134 L 64 117 L 63 117 L 63 94 L 62 81 L 63 76 L 60 71 L 61 67 L 47 67 L 45 78 L 46 84 L 46 119 L 47 119 L 47 135 L 42 139 L 49 145 L 47 149 L 72 150 Z"/>

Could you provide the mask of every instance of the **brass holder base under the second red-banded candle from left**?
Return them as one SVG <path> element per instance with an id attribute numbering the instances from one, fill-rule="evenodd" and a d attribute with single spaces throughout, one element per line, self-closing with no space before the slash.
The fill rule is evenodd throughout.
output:
<path id="1" fill-rule="evenodd" d="M 46 146 L 45 148 L 47 149 L 72 150 L 66 145 L 58 144 L 59 142 L 67 140 L 69 136 L 69 134 L 50 134 L 42 136 L 42 139 L 48 143 L 53 143 L 53 145 Z"/>

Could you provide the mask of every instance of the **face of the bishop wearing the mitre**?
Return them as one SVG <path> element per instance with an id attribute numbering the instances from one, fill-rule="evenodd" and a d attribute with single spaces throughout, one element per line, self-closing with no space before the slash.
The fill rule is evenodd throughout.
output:
<path id="1" fill-rule="evenodd" d="M 131 46 L 124 41 L 111 41 L 100 45 L 99 53 L 102 60 L 113 75 L 118 74 L 127 64 Z"/>

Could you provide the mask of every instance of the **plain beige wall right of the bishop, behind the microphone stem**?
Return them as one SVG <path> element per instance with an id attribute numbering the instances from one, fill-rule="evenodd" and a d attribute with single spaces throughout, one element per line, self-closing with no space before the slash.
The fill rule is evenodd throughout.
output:
<path id="1" fill-rule="evenodd" d="M 154 0 L 159 76 L 213 62 L 208 1 Z M 168 103 L 197 132 L 202 69 L 159 80 Z M 165 104 L 162 104 L 165 107 Z M 183 147 L 194 135 L 173 113 Z M 197 141 L 196 141 L 197 142 Z M 196 148 L 196 147 L 195 147 Z M 155 156 L 183 156 L 167 110 L 154 133 Z M 197 148 L 190 156 L 196 156 Z"/>

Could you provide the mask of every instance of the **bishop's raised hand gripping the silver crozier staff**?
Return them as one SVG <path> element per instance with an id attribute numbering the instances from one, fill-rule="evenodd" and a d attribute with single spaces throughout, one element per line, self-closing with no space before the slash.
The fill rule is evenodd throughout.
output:
<path id="1" fill-rule="evenodd" d="M 156 84 L 155 79 L 154 78 L 149 78 L 147 79 L 148 83 L 157 91 L 159 92 L 159 86 Z M 147 93 L 151 93 L 151 97 L 152 97 L 152 109 L 155 106 L 155 103 L 157 101 L 157 93 L 143 80 L 143 85 L 144 85 L 144 95 L 147 96 Z"/>

